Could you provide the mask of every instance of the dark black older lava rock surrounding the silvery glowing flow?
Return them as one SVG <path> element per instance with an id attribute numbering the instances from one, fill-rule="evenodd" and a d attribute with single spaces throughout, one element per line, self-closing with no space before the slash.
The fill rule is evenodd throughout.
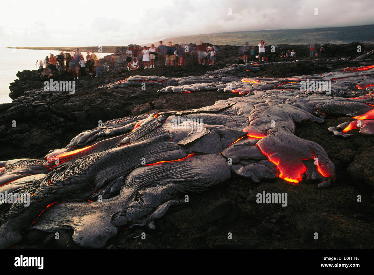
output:
<path id="1" fill-rule="evenodd" d="M 144 77 L 170 80 L 162 85 L 147 85 L 145 90 L 134 83 L 123 84 L 128 87 L 113 85 L 134 77 L 134 72 L 122 65 L 122 49 L 116 49 L 117 70 L 79 80 L 74 95 L 43 91 L 42 71 L 25 70 L 19 72 L 19 80 L 10 85 L 12 103 L 0 104 L 0 160 L 42 159 L 50 149 L 63 148 L 79 132 L 98 127 L 100 121 L 197 109 L 218 100 L 242 96 L 218 89 L 188 94 L 157 92 L 166 86 L 179 85 L 178 77 L 210 75 L 217 79 L 217 74 L 222 73 L 227 79 L 221 77 L 220 81 L 237 81 L 243 77 L 286 78 L 373 65 L 373 48 L 368 46 L 365 54 L 358 55 L 358 45 L 330 45 L 320 59 L 298 57 L 298 61 L 287 62 L 278 57 L 280 52 L 295 49 L 298 56 L 309 56 L 308 48 L 281 45 L 271 62 L 258 62 L 259 65 L 252 65 L 251 69 L 248 65 L 236 64 L 238 47 L 217 46 L 218 62 L 214 66 L 138 71 L 137 74 Z M 270 52 L 270 48 L 266 51 Z M 53 78 L 67 79 L 66 74 Z M 369 89 L 353 86 L 334 91 L 331 96 L 361 97 L 368 94 Z M 16 127 L 12 127 L 13 121 Z M 327 131 L 346 121 L 344 117 L 327 116 L 322 124 L 302 123 L 296 127 L 297 137 L 321 145 L 334 163 L 337 178 L 332 189 L 317 189 L 308 182 L 295 187 L 279 178 L 257 184 L 232 177 L 225 184 L 191 195 L 190 204 L 171 208 L 166 216 L 156 221 L 156 230 L 126 228 L 107 248 L 373 248 L 374 175 L 370 167 L 373 167 L 374 138 L 358 135 L 358 130 L 353 130 L 355 135 L 347 139 Z M 255 203 L 255 194 L 262 190 L 288 193 L 293 197 L 292 203 L 287 208 L 259 206 Z M 356 203 L 357 195 L 362 195 L 360 204 Z M 138 236 L 144 230 L 150 237 L 140 242 Z M 320 241 L 313 240 L 316 230 L 324 232 Z M 235 236 L 233 242 L 227 241 L 227 232 Z M 48 233 L 30 230 L 15 248 L 79 248 L 69 232 L 61 236 L 56 241 Z"/>

